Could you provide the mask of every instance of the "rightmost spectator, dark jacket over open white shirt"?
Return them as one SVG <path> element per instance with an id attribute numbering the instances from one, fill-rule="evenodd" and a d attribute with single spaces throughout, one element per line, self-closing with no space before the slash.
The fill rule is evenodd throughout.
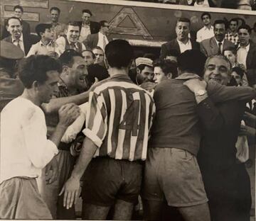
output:
<path id="1" fill-rule="evenodd" d="M 256 84 L 256 44 L 250 40 L 250 26 L 242 25 L 238 28 L 238 63 L 246 67 L 246 75 L 250 86 Z"/>

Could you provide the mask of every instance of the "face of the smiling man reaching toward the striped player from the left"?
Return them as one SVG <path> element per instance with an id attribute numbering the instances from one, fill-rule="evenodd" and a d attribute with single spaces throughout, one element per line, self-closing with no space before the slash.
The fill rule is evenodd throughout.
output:
<path id="1" fill-rule="evenodd" d="M 79 90 L 87 89 L 87 67 L 85 60 L 82 57 L 73 57 L 72 67 L 68 67 L 69 75 L 68 82 L 65 82 L 68 86 Z"/>

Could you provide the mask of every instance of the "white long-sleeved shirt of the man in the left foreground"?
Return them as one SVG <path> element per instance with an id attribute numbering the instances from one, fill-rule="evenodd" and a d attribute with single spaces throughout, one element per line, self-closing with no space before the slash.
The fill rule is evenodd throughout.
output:
<path id="1" fill-rule="evenodd" d="M 53 157 L 56 145 L 47 140 L 41 108 L 15 98 L 1 111 L 0 183 L 15 176 L 36 178 Z"/>

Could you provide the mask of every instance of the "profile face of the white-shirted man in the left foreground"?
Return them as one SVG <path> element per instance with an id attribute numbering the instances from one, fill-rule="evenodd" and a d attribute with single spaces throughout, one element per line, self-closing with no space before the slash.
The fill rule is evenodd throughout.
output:
<path id="1" fill-rule="evenodd" d="M 43 84 L 38 85 L 38 96 L 41 103 L 49 103 L 53 95 L 58 92 L 59 73 L 57 71 L 48 71 L 46 75 L 48 79 Z"/>

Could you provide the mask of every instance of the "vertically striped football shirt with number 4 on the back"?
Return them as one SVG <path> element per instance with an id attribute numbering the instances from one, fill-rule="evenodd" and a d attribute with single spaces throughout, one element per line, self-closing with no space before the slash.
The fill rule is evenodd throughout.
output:
<path id="1" fill-rule="evenodd" d="M 147 91 L 117 75 L 90 92 L 84 134 L 97 145 L 97 156 L 146 159 L 155 106 Z"/>

